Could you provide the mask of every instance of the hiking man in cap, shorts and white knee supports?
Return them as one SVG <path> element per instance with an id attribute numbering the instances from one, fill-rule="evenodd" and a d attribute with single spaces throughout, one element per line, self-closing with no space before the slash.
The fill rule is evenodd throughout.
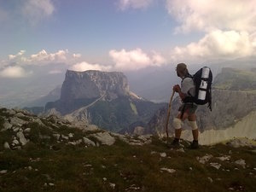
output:
<path id="1" fill-rule="evenodd" d="M 173 91 L 177 92 L 182 99 L 182 105 L 178 108 L 177 117 L 173 119 L 173 126 L 175 128 L 175 138 L 172 142 L 173 147 L 179 146 L 179 139 L 182 133 L 183 121 L 189 119 L 189 126 L 192 128 L 193 142 L 190 148 L 199 148 L 198 145 L 198 127 L 196 125 L 195 111 L 197 105 L 194 102 L 189 101 L 189 98 L 195 96 L 195 84 L 192 76 L 189 74 L 186 64 L 177 64 L 177 76 L 182 79 L 181 86 L 178 84 L 173 86 Z"/>

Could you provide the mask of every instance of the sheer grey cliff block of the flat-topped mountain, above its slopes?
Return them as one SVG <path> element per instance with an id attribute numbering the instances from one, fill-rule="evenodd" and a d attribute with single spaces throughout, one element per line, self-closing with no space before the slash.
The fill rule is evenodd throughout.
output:
<path id="1" fill-rule="evenodd" d="M 129 93 L 128 80 L 123 73 L 100 71 L 74 72 L 67 70 L 61 87 L 61 101 L 91 99 L 105 94 L 113 99 Z"/>

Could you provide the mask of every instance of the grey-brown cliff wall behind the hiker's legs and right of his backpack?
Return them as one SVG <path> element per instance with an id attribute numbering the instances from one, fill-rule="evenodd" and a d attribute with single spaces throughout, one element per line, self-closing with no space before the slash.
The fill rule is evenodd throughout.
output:
<path id="1" fill-rule="evenodd" d="M 172 119 L 177 115 L 177 109 L 180 104 L 179 97 L 172 103 L 169 123 L 170 132 L 173 131 Z M 253 111 L 256 111 L 256 94 L 235 90 L 212 90 L 212 112 L 207 106 L 198 106 L 196 112 L 197 124 L 201 132 L 224 130 L 236 125 Z M 148 132 L 154 132 L 159 135 L 165 134 L 166 115 L 167 106 L 154 114 L 154 117 L 148 123 Z M 185 125 L 184 128 L 188 128 L 188 126 Z"/>

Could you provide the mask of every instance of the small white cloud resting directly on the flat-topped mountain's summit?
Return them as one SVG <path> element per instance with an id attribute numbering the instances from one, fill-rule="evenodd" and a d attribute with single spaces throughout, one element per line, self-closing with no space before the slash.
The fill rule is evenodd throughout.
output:
<path id="1" fill-rule="evenodd" d="M 70 67 L 71 70 L 77 71 L 77 72 L 84 72 L 87 70 L 99 70 L 99 71 L 109 71 L 111 69 L 111 66 L 102 66 L 99 64 L 90 64 L 86 61 L 79 62 L 72 67 Z"/>

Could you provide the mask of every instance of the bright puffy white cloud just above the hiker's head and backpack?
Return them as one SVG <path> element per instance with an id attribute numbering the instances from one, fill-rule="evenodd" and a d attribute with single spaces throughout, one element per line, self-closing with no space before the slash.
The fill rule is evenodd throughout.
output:
<path id="1" fill-rule="evenodd" d="M 235 59 L 256 55 L 256 37 L 248 32 L 215 30 L 196 43 L 177 46 L 172 50 L 172 60 L 181 59 Z"/>

